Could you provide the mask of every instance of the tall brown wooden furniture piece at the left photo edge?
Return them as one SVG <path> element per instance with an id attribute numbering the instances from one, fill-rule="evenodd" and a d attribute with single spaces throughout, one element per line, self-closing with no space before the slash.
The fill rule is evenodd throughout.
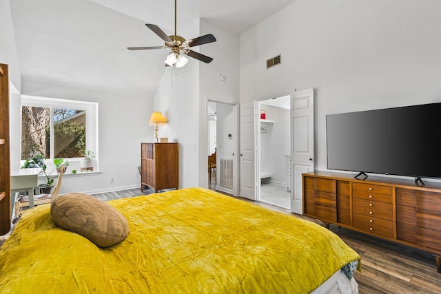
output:
<path id="1" fill-rule="evenodd" d="M 8 65 L 0 63 L 0 235 L 11 226 Z"/>

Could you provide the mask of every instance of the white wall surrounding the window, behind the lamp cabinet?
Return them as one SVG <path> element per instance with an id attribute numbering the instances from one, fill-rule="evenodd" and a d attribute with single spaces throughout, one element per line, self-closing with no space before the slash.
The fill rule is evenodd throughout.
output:
<path id="1" fill-rule="evenodd" d="M 9 65 L 10 81 L 18 91 L 11 92 L 11 167 L 19 167 L 21 106 L 20 94 L 74 99 L 99 103 L 99 169 L 94 176 L 65 176 L 60 193 L 115 191 L 141 187 L 137 166 L 141 164 L 141 142 L 150 142 L 153 127 L 151 97 L 122 96 L 99 90 L 45 85 L 21 81 L 19 61 L 10 13 L 10 1 L 0 0 L 0 63 Z M 109 178 L 114 178 L 109 183 Z"/>

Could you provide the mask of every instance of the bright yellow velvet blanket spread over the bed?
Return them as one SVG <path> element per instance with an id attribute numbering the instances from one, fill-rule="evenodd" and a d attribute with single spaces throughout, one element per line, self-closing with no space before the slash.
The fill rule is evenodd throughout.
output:
<path id="1" fill-rule="evenodd" d="M 309 293 L 358 254 L 317 224 L 207 189 L 109 202 L 130 224 L 100 249 L 50 205 L 0 249 L 0 293 Z"/>

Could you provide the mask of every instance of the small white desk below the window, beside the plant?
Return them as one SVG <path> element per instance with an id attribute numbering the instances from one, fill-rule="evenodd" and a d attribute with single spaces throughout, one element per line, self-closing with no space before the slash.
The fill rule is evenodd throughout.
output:
<path id="1" fill-rule="evenodd" d="M 34 187 L 39 187 L 39 174 L 41 168 L 18 169 L 11 171 L 11 194 L 28 191 L 29 207 L 34 207 Z M 14 201 L 11 201 L 12 209 Z"/>

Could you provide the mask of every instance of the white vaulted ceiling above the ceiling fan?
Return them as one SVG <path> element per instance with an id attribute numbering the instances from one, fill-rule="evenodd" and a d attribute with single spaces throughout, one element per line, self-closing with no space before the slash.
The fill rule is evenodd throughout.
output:
<path id="1" fill-rule="evenodd" d="M 185 23 L 198 18 L 240 34 L 292 2 L 178 0 L 178 34 Z M 145 23 L 172 34 L 173 0 L 11 0 L 10 4 L 23 81 L 146 97 L 156 92 L 168 51 L 135 52 L 127 47 L 163 45 Z"/>

